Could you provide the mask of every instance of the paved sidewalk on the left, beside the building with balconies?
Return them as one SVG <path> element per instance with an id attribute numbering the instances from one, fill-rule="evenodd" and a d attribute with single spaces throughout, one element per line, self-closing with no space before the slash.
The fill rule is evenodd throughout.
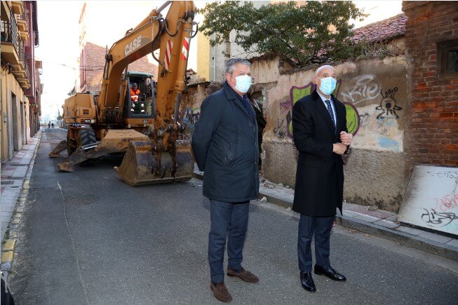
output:
<path id="1" fill-rule="evenodd" d="M 2 243 L 5 236 L 12 240 L 15 238 L 15 228 L 18 226 L 27 198 L 30 175 L 32 175 L 36 149 L 40 142 L 42 130 L 39 130 L 34 137 L 29 138 L 28 144 L 24 145 L 12 160 L 1 165 L 0 238 Z M 2 251 L 6 250 L 6 246 L 2 247 Z M 2 262 L 4 261 L 3 257 L 4 253 L 2 252 Z"/>

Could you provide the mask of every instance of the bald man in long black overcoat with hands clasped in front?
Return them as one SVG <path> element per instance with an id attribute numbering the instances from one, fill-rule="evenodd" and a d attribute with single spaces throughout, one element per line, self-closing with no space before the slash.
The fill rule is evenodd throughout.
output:
<path id="1" fill-rule="evenodd" d="M 344 168 L 342 154 L 351 144 L 346 109 L 331 93 L 336 72 L 329 65 L 316 70 L 317 89 L 298 100 L 292 109 L 294 142 L 299 151 L 292 210 L 301 214 L 297 256 L 302 287 L 316 291 L 311 276 L 311 238 L 315 236 L 315 273 L 332 280 L 345 276 L 330 266 L 330 231 L 336 208 L 342 213 Z"/>

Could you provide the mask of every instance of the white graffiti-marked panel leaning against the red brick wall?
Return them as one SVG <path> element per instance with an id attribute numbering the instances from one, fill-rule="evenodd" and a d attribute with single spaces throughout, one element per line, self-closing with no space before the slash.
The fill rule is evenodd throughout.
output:
<path id="1" fill-rule="evenodd" d="M 458 168 L 418 165 L 399 220 L 458 234 Z"/>

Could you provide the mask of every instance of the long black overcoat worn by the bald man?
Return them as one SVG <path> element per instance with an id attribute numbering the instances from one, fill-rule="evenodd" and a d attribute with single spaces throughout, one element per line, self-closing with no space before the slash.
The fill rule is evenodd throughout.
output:
<path id="1" fill-rule="evenodd" d="M 332 96 L 337 113 L 334 127 L 328 110 L 316 90 L 298 100 L 292 109 L 294 143 L 299 151 L 292 210 L 314 217 L 342 214 L 344 168 L 342 156 L 332 152 L 346 130 L 346 109 Z"/>

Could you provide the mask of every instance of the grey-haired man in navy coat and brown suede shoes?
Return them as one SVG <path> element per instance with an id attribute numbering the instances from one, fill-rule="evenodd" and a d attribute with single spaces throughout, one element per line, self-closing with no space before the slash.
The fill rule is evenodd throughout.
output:
<path id="1" fill-rule="evenodd" d="M 227 275 L 249 283 L 259 280 L 241 262 L 250 200 L 257 198 L 260 180 L 257 123 L 246 95 L 251 86 L 250 62 L 231 58 L 225 72 L 222 90 L 201 104 L 192 149 L 199 170 L 204 171 L 203 195 L 210 199 L 210 288 L 220 301 L 231 301 L 224 285 L 226 238 Z"/>

